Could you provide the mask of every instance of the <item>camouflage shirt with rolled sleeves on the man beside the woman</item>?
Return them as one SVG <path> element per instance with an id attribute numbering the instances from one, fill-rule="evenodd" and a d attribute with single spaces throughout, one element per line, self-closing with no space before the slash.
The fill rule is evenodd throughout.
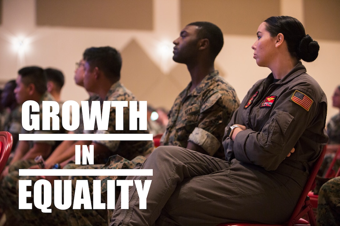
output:
<path id="1" fill-rule="evenodd" d="M 188 141 L 209 155 L 224 158 L 222 137 L 239 99 L 218 71 L 211 72 L 190 92 L 191 82 L 177 96 L 160 144 L 187 147 Z"/>

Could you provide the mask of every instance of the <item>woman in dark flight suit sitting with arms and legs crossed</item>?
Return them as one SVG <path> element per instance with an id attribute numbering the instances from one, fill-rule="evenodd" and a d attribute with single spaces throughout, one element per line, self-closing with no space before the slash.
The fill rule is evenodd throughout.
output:
<path id="1" fill-rule="evenodd" d="M 146 209 L 139 209 L 131 186 L 130 209 L 117 203 L 110 226 L 289 219 L 328 141 L 326 95 L 300 61 L 315 60 L 319 45 L 300 21 L 279 16 L 259 25 L 252 49 L 257 65 L 272 73 L 248 91 L 226 127 L 226 161 L 180 147 L 156 148 L 135 167 L 153 169 L 143 178 L 152 180 Z"/>

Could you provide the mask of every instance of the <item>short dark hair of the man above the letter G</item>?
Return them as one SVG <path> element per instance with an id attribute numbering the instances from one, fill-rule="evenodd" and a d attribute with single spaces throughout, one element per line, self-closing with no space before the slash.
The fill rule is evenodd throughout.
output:
<path id="1" fill-rule="evenodd" d="M 37 66 L 24 67 L 18 71 L 18 74 L 21 76 L 21 82 L 25 86 L 31 83 L 34 84 L 35 90 L 41 95 L 47 91 L 44 69 Z"/>

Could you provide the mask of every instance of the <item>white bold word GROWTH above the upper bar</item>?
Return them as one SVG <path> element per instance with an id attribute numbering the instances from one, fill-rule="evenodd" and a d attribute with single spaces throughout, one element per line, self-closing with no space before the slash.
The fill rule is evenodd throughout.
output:
<path id="1" fill-rule="evenodd" d="M 110 112 L 115 110 L 116 130 L 124 130 L 124 108 L 129 107 L 129 129 L 137 130 L 139 119 L 139 130 L 147 130 L 147 101 L 138 101 L 139 111 L 137 110 L 137 101 L 92 101 L 91 110 L 89 110 L 89 101 L 81 101 L 84 130 L 94 130 L 97 121 L 98 130 L 107 130 Z M 114 109 L 111 109 L 111 108 Z M 34 100 L 27 100 L 22 104 L 22 127 L 25 130 L 39 130 L 39 114 L 31 112 L 40 112 L 39 104 Z M 52 120 L 52 130 L 59 130 L 60 113 L 59 103 L 56 101 L 43 101 L 42 107 L 42 130 L 50 130 L 50 121 Z M 62 106 L 62 126 L 65 130 L 73 131 L 80 125 L 80 109 L 77 101 L 67 100 Z M 70 118 L 71 117 L 71 118 Z M 71 119 L 71 120 L 70 120 Z"/>

